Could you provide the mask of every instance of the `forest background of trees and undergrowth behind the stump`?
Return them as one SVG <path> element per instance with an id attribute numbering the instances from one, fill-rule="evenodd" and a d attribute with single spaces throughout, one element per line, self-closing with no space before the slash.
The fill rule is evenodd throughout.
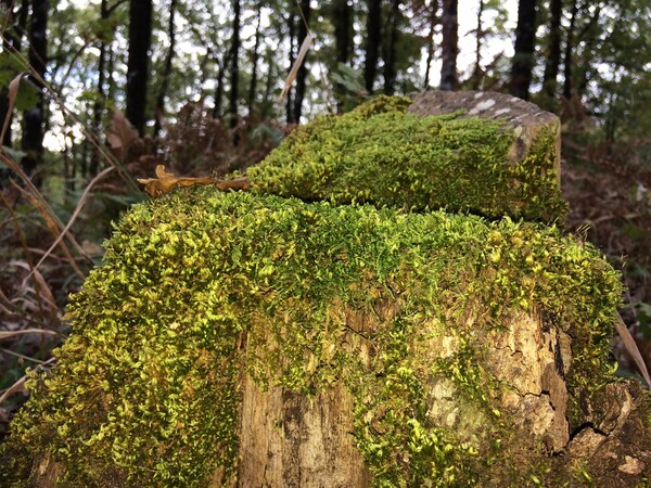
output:
<path id="1" fill-rule="evenodd" d="M 145 198 L 137 178 L 244 170 L 379 93 L 494 90 L 558 114 L 567 231 L 622 270 L 651 363 L 649 0 L 0 0 L 0 439 L 111 221 Z"/>

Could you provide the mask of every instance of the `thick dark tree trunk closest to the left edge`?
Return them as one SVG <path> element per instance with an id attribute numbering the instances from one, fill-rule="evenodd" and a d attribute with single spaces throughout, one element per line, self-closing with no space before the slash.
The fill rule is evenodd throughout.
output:
<path id="1" fill-rule="evenodd" d="M 23 170 L 31 176 L 43 154 L 44 102 L 41 79 L 46 77 L 48 61 L 48 0 L 31 1 L 29 22 L 29 64 L 40 79 L 34 81 L 40 88 L 38 103 L 23 114 Z"/>

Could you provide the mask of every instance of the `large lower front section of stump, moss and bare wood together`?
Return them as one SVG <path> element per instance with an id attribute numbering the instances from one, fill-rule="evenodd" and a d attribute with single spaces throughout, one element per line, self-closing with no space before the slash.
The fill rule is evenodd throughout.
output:
<path id="1" fill-rule="evenodd" d="M 12 426 L 71 486 L 649 475 L 648 397 L 608 362 L 618 275 L 554 228 L 204 188 L 105 247 Z"/>

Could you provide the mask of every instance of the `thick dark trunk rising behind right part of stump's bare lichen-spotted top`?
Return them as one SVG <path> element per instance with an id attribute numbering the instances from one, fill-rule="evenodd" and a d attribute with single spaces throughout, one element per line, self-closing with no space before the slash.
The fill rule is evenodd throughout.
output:
<path id="1" fill-rule="evenodd" d="M 511 68 L 511 94 L 528 100 L 536 47 L 536 0 L 520 0 Z"/>

